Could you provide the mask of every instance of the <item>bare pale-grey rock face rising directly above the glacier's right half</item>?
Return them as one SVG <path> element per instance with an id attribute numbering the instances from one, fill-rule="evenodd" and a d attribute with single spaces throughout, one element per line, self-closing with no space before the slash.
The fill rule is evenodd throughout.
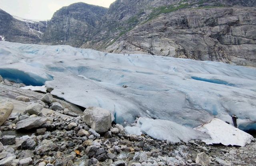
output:
<path id="1" fill-rule="evenodd" d="M 256 9 L 180 10 L 139 25 L 106 48 L 255 66 Z"/>

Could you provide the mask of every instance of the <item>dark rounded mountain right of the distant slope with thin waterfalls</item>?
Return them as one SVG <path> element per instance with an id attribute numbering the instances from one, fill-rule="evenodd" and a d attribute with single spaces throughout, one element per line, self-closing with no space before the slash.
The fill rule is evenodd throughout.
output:
<path id="1" fill-rule="evenodd" d="M 102 23 L 107 8 L 76 3 L 54 13 L 41 44 L 80 47 Z"/>

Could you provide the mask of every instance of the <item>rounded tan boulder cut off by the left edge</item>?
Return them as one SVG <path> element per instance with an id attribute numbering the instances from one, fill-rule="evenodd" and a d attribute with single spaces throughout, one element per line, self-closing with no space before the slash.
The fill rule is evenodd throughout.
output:
<path id="1" fill-rule="evenodd" d="M 0 101 L 0 126 L 11 115 L 14 105 L 8 101 Z"/>

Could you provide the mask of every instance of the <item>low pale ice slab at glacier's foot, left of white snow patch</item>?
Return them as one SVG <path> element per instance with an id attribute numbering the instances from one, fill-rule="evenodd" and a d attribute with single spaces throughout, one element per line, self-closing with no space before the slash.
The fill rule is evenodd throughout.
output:
<path id="1" fill-rule="evenodd" d="M 210 135 L 205 132 L 194 130 L 182 126 L 180 124 L 160 120 L 140 117 L 137 120 L 136 126 L 125 127 L 125 131 L 128 134 L 140 135 L 141 132 L 156 138 L 158 140 L 169 140 L 170 142 L 188 142 L 189 140 L 202 140 L 210 139 Z"/>

